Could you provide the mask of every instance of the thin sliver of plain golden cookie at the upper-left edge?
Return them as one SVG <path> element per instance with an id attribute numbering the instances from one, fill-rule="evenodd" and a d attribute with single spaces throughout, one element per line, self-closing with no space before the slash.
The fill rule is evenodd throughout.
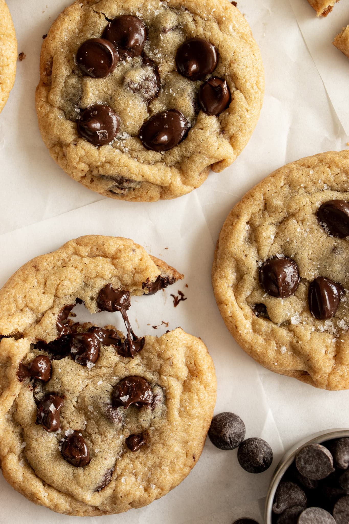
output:
<path id="1" fill-rule="evenodd" d="M 15 28 L 5 0 L 0 0 L 0 113 L 15 83 L 16 63 Z"/>

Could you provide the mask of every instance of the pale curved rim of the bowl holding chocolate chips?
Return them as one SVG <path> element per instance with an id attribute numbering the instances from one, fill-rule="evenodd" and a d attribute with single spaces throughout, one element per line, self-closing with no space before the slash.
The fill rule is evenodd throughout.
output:
<path id="1" fill-rule="evenodd" d="M 306 446 L 307 444 L 321 444 L 322 442 L 325 442 L 327 440 L 341 439 L 346 436 L 349 437 L 349 428 L 319 431 L 318 433 L 314 433 L 305 437 L 304 439 L 297 442 L 297 444 L 294 444 L 292 447 L 290 447 L 290 449 L 284 454 L 284 456 L 276 466 L 271 482 L 269 484 L 264 508 L 265 524 L 272 524 L 272 507 L 277 486 L 279 485 L 279 482 L 286 473 L 286 470 L 288 470 L 289 466 L 294 461 L 298 450 L 301 447 Z"/>

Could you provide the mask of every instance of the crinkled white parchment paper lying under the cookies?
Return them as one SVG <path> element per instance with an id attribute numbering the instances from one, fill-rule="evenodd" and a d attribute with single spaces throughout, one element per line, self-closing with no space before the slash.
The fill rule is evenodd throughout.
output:
<path id="1" fill-rule="evenodd" d="M 308 6 L 306 0 L 301 2 Z M 284 163 L 344 149 L 349 141 L 291 5 L 288 0 L 238 0 L 261 48 L 266 73 L 261 118 L 242 155 L 223 173 L 210 174 L 190 195 L 176 201 L 133 204 L 101 200 L 71 180 L 51 160 L 40 138 L 33 95 L 41 38 L 70 0 L 7 3 L 17 30 L 18 52 L 25 52 L 26 60 L 18 62 L 15 88 L 0 115 L 0 285 L 29 258 L 70 238 L 87 233 L 133 238 L 186 276 L 184 282 L 164 293 L 133 299 L 131 317 L 138 324 L 137 333 L 163 333 L 167 329 L 164 325 L 157 330 L 152 325 L 168 321 L 168 329 L 181 325 L 201 336 L 216 365 L 216 412 L 238 413 L 245 421 L 246 436 L 269 441 L 275 460 L 268 472 L 247 474 L 238 465 L 236 451 L 222 452 L 207 442 L 198 465 L 173 492 L 147 508 L 98 520 L 60 516 L 34 506 L 1 478 L 0 523 L 117 520 L 121 524 L 231 524 L 236 518 L 250 516 L 262 524 L 263 497 L 283 446 L 287 448 L 314 431 L 348 425 L 348 391 L 316 390 L 268 372 L 245 355 L 220 318 L 210 284 L 213 248 L 233 204 Z M 326 23 L 314 18 L 311 8 L 303 17 L 321 27 Z M 347 23 L 343 20 L 340 25 Z M 336 51 L 331 38 L 324 46 L 324 56 L 332 48 Z M 349 71 L 349 61 L 344 64 Z M 342 96 L 347 83 L 338 83 L 336 88 Z M 96 203 L 86 206 L 91 202 Z M 66 213 L 76 208 L 80 209 Z M 183 290 L 188 300 L 174 309 L 170 293 L 177 289 Z M 100 318 L 102 321 L 102 315 Z"/>

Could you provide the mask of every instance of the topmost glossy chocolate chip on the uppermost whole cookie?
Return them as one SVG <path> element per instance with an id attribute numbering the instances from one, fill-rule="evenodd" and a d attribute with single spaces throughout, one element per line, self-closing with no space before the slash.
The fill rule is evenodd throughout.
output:
<path id="1" fill-rule="evenodd" d="M 137 16 L 118 16 L 109 22 L 104 30 L 103 38 L 114 44 L 121 60 L 127 57 L 140 57 L 143 51 L 147 30 Z"/>

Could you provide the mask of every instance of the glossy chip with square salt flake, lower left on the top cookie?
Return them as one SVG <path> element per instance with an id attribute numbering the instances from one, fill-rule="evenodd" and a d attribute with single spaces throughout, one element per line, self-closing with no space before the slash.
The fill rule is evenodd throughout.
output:
<path id="1" fill-rule="evenodd" d="M 88 106 L 77 121 L 77 131 L 94 146 L 106 146 L 116 137 L 119 118 L 108 105 Z"/>

